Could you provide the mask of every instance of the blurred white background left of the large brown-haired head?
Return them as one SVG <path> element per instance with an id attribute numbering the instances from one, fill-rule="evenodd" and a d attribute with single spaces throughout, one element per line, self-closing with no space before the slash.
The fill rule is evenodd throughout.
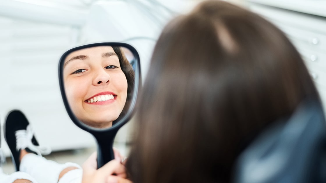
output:
<path id="1" fill-rule="evenodd" d="M 1 148 L 9 150 L 3 123 L 12 109 L 22 110 L 41 144 L 52 150 L 94 146 L 64 108 L 58 62 L 68 49 L 94 42 L 126 42 L 141 57 L 145 77 L 156 39 L 171 18 L 199 0 L 1 0 Z M 129 127 L 128 127 L 129 126 Z M 125 143 L 130 125 L 117 135 Z"/>

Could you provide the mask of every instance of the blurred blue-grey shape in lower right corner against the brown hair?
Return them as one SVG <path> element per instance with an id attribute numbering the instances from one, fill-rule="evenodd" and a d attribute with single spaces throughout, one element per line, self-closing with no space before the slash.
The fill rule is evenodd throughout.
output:
<path id="1" fill-rule="evenodd" d="M 319 174 L 321 164 L 326 165 L 322 161 L 325 135 L 320 102 L 302 102 L 289 118 L 275 122 L 241 153 L 234 182 L 325 182 L 325 176 Z"/>

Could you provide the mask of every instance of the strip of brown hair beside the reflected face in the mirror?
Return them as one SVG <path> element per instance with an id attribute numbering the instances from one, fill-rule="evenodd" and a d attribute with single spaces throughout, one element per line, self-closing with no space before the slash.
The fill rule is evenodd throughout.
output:
<path id="1" fill-rule="evenodd" d="M 113 121 L 112 125 L 114 125 L 116 123 L 116 121 L 120 120 L 121 118 L 123 118 L 125 116 L 126 112 L 129 109 L 130 102 L 131 102 L 133 92 L 134 92 L 134 86 L 135 86 L 135 71 L 133 70 L 130 62 L 127 60 L 124 51 L 118 46 L 112 46 L 112 48 L 119 58 L 121 70 L 125 74 L 125 76 L 127 78 L 127 84 L 128 84 L 127 99 L 126 99 L 125 107 L 123 108 L 119 117 Z"/>

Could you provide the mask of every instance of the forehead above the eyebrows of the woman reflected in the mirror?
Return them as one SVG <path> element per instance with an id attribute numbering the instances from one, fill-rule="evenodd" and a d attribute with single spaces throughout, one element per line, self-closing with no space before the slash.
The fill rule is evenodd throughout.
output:
<path id="1" fill-rule="evenodd" d="M 114 52 L 114 50 L 111 46 L 97 46 L 97 47 L 80 49 L 69 53 L 69 55 L 65 59 L 65 63 L 71 58 L 77 56 L 84 55 L 84 56 L 88 56 L 89 58 L 101 57 L 103 53 L 107 53 L 107 52 Z"/>

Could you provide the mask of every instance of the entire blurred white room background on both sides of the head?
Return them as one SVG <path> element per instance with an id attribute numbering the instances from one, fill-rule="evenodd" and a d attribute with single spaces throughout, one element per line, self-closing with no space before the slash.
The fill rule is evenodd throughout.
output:
<path id="1" fill-rule="evenodd" d="M 137 49 L 142 78 L 164 25 L 202 0 L 0 0 L 1 148 L 9 156 L 3 123 L 20 109 L 39 143 L 52 151 L 95 146 L 70 120 L 58 83 L 58 62 L 68 49 L 95 42 L 125 42 Z M 326 104 L 326 0 L 230 0 L 281 28 L 297 47 Z M 268 36 L 268 35 L 266 35 Z M 127 154 L 132 120 L 115 144 Z"/>

